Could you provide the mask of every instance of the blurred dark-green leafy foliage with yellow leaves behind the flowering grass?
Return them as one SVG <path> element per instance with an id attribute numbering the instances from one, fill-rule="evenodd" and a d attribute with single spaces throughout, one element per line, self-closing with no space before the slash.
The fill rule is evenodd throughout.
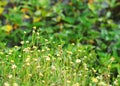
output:
<path id="1" fill-rule="evenodd" d="M 0 48 L 31 40 L 35 26 L 46 38 L 93 45 L 120 62 L 119 8 L 119 0 L 0 0 Z"/>

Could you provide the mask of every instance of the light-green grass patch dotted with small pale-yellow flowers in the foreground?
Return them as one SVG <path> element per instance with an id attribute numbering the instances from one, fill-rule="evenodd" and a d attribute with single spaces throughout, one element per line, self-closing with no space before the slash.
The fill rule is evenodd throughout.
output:
<path id="1" fill-rule="evenodd" d="M 25 36 L 24 36 L 25 37 Z M 0 49 L 0 86 L 119 86 L 114 57 L 100 63 L 94 46 L 47 39 L 33 30 L 31 41 Z M 117 70 L 119 67 L 116 67 Z"/>

